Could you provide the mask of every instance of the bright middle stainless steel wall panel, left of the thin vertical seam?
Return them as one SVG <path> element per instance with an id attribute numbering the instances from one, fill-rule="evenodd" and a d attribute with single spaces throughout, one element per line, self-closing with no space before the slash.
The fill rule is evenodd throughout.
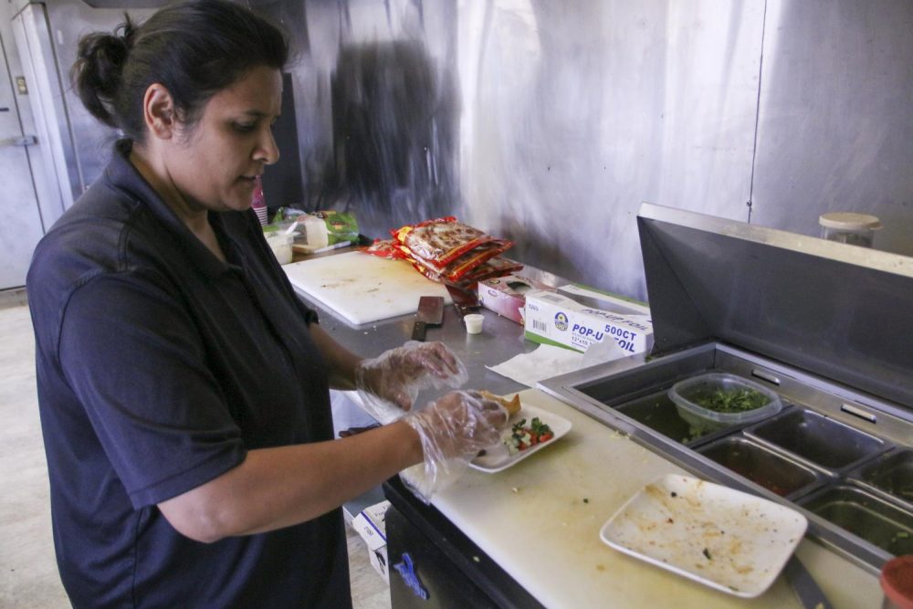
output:
<path id="1" fill-rule="evenodd" d="M 642 201 L 744 219 L 758 2 L 463 3 L 463 215 L 515 254 L 645 298 Z"/>

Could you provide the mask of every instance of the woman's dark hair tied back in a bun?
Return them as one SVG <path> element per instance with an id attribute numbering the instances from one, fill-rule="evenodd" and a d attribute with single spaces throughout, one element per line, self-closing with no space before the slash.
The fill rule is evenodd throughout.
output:
<path id="1" fill-rule="evenodd" d="M 142 143 L 142 99 L 152 83 L 168 89 L 181 121 L 193 126 L 215 93 L 252 68 L 282 69 L 288 58 L 285 33 L 248 8 L 189 0 L 140 26 L 125 15 L 113 33 L 80 38 L 70 79 L 92 116 Z"/>

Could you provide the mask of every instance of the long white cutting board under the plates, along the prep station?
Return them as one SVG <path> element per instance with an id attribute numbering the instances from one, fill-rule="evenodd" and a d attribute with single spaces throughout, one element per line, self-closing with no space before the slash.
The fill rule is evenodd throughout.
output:
<path id="1" fill-rule="evenodd" d="M 800 606 L 782 577 L 742 605 L 729 594 L 604 544 L 599 531 L 616 509 L 647 482 L 684 470 L 550 395 L 536 389 L 519 395 L 521 404 L 570 421 L 571 431 L 504 471 L 469 469 L 432 504 L 541 604 L 574 609 Z"/>

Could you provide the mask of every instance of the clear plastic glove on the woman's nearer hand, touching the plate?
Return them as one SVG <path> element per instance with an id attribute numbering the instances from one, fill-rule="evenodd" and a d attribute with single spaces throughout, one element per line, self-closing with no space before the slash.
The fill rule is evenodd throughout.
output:
<path id="1" fill-rule="evenodd" d="M 400 478 L 427 503 L 466 471 L 478 451 L 501 441 L 508 419 L 504 406 L 471 391 L 446 394 L 404 415 L 422 440 L 425 461 L 405 469 Z"/>

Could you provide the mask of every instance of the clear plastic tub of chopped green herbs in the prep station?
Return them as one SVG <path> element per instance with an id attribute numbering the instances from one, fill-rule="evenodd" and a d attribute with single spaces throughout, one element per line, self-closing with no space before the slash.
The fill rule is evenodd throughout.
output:
<path id="1" fill-rule="evenodd" d="M 767 387 L 729 373 L 709 373 L 679 381 L 669 389 L 678 415 L 695 431 L 708 433 L 775 415 L 780 396 Z"/>

